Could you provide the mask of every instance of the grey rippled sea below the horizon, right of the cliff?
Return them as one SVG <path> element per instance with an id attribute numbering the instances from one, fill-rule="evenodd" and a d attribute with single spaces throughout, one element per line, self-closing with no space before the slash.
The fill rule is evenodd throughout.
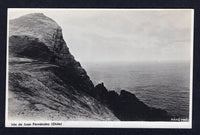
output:
<path id="1" fill-rule="evenodd" d="M 87 62 L 82 66 L 95 85 L 103 82 L 118 93 L 127 90 L 151 107 L 189 118 L 189 62 Z"/>

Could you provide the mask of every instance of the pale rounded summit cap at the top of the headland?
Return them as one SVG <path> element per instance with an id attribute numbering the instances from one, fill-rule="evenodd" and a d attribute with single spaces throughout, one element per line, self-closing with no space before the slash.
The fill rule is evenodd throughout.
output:
<path id="1" fill-rule="evenodd" d="M 9 36 L 27 35 L 38 38 L 52 48 L 55 33 L 61 32 L 60 26 L 42 13 L 28 14 L 9 22 Z"/>

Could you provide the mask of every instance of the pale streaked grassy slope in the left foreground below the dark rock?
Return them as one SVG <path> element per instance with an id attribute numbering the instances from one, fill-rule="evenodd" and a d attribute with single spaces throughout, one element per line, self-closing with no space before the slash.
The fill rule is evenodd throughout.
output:
<path id="1" fill-rule="evenodd" d="M 10 58 L 10 119 L 117 120 L 112 112 L 85 92 L 64 83 L 59 67 L 27 58 Z"/>

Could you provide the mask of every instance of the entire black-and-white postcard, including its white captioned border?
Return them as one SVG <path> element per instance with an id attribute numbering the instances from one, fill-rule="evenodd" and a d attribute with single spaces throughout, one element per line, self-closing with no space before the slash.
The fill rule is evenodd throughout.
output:
<path id="1" fill-rule="evenodd" d="M 7 13 L 6 127 L 192 127 L 192 9 Z"/>

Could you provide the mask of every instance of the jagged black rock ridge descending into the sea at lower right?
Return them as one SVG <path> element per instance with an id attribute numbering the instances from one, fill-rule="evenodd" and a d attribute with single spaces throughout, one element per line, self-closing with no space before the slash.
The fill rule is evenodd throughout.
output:
<path id="1" fill-rule="evenodd" d="M 120 120 L 169 121 L 171 119 L 166 111 L 147 106 L 128 91 L 121 90 L 120 94 L 117 94 L 115 91 L 108 91 L 101 83 L 95 86 L 94 93 L 95 98 L 106 104 Z"/>

